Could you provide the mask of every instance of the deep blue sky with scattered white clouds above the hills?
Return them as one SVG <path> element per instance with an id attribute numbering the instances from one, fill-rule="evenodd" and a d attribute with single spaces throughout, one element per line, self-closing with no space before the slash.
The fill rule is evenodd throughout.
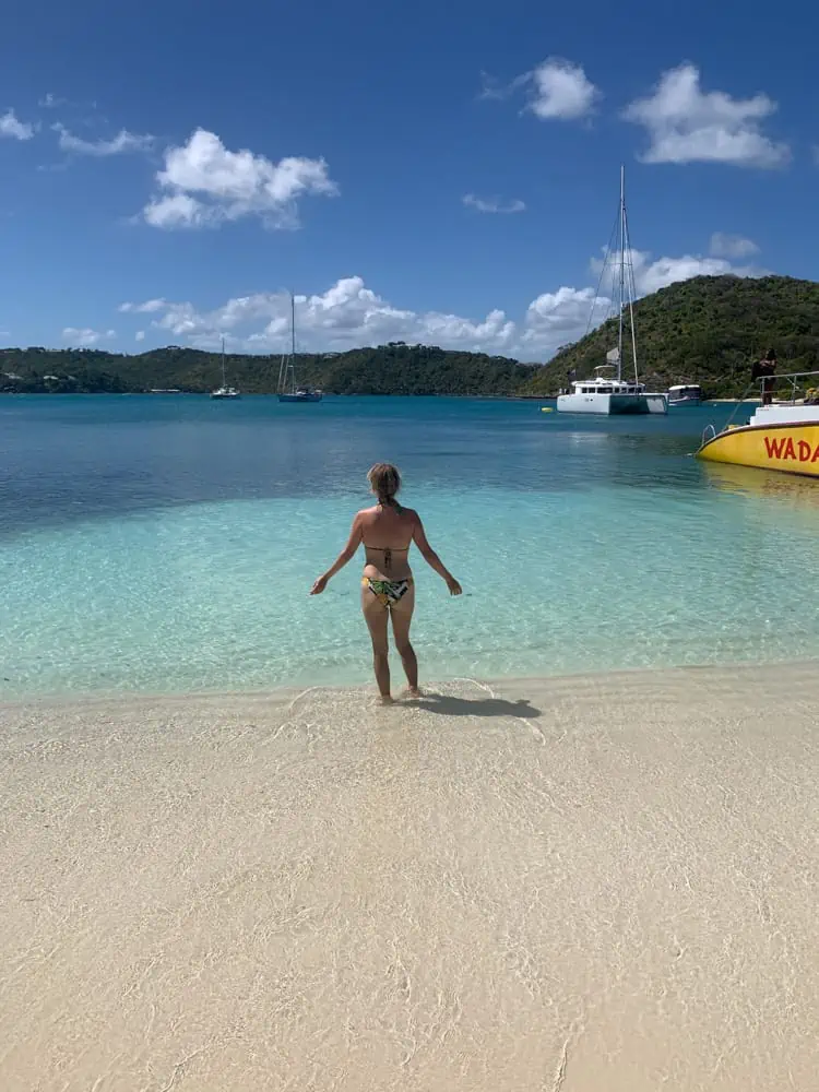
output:
<path id="1" fill-rule="evenodd" d="M 0 345 L 545 360 L 638 294 L 817 277 L 794 0 L 7 0 Z M 605 308 L 594 312 L 605 318 Z"/>

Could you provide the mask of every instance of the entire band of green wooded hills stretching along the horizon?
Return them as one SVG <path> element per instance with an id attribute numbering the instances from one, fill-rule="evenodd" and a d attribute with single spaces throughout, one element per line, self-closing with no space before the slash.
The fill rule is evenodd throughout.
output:
<path id="1" fill-rule="evenodd" d="M 819 284 L 792 277 L 696 277 L 634 305 L 640 378 L 664 390 L 699 382 L 712 397 L 743 394 L 750 367 L 773 346 L 780 372 L 819 369 Z M 300 354 L 300 382 L 332 394 L 554 394 L 567 375 L 591 376 L 616 344 L 615 320 L 545 366 L 502 356 L 393 342 L 347 353 Z M 230 355 L 228 381 L 248 394 L 275 391 L 280 357 Z M 628 375 L 628 369 L 626 369 Z M 136 356 L 97 349 L 0 349 L 0 391 L 111 392 L 221 382 L 219 355 L 168 346 Z"/>

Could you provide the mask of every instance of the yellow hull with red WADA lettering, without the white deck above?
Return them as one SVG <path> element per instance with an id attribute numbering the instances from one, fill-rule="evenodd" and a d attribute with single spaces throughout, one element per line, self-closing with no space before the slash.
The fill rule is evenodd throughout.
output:
<path id="1" fill-rule="evenodd" d="M 819 422 L 729 428 L 707 440 L 697 458 L 819 478 Z"/>

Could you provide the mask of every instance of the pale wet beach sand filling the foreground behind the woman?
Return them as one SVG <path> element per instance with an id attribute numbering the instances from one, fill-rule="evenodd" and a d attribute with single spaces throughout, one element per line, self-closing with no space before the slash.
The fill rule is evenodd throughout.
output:
<path id="1" fill-rule="evenodd" d="M 3 1092 L 782 1092 L 819 668 L 0 709 Z"/>

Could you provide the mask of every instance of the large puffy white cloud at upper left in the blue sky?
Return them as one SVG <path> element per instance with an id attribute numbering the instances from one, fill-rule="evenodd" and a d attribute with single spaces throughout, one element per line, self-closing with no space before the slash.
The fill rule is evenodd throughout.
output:
<path id="1" fill-rule="evenodd" d="M 204 129 L 165 152 L 156 180 L 161 192 L 143 216 L 164 228 L 216 226 L 242 216 L 259 216 L 265 227 L 294 228 L 299 198 L 339 192 L 323 159 L 286 156 L 272 163 L 247 149 L 230 152 Z"/>

